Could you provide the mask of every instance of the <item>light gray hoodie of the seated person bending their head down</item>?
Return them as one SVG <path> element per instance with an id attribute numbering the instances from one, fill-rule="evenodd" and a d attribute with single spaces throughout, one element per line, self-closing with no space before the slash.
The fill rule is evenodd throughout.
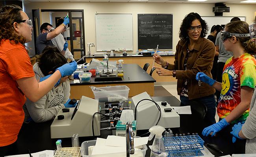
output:
<path id="1" fill-rule="evenodd" d="M 35 63 L 33 66 L 36 79 L 45 77 Z M 23 110 L 25 112 L 25 122 L 32 120 L 34 122 L 45 122 L 53 119 L 60 109 L 65 108 L 64 104 L 70 97 L 70 84 L 69 80 L 59 84 L 57 87 L 52 88 L 45 96 L 39 99 L 37 102 L 32 102 L 28 98 Z"/>

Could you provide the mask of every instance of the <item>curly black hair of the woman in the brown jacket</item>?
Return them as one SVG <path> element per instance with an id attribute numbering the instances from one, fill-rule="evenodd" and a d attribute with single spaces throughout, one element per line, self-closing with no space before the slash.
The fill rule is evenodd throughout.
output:
<path id="1" fill-rule="evenodd" d="M 182 24 L 180 25 L 179 37 L 181 40 L 189 40 L 187 30 L 189 29 L 189 27 L 191 27 L 192 22 L 196 19 L 200 21 L 202 26 L 200 37 L 206 37 L 208 33 L 208 26 L 206 22 L 201 18 L 198 13 L 192 12 L 185 16 L 185 18 L 182 20 Z"/>

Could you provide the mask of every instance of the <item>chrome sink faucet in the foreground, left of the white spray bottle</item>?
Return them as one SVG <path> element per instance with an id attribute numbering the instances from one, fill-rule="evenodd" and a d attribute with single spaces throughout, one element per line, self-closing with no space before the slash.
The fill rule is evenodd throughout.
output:
<path id="1" fill-rule="evenodd" d="M 132 131 L 132 123 L 126 123 L 126 157 L 134 154 L 134 132 Z"/>

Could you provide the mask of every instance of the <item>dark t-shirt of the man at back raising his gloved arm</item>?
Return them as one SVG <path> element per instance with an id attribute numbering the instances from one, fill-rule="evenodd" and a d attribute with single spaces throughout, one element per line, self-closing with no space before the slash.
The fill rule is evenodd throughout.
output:
<path id="1" fill-rule="evenodd" d="M 43 33 L 37 37 L 36 47 L 37 47 L 37 54 L 40 55 L 45 49 L 46 46 L 54 47 L 51 40 L 46 40 L 46 36 L 48 33 Z"/>

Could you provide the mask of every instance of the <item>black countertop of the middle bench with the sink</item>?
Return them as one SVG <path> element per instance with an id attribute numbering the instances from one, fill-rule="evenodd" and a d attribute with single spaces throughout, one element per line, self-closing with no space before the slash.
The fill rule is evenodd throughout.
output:
<path id="1" fill-rule="evenodd" d="M 70 86 L 75 85 L 88 85 L 88 84 L 117 84 L 117 83 L 141 83 L 141 82 L 156 82 L 145 70 L 143 70 L 138 64 L 123 64 L 124 76 L 121 81 L 101 81 L 95 82 L 95 77 L 91 77 L 91 82 L 73 83 L 70 82 Z M 109 76 L 115 77 L 115 76 Z"/>

